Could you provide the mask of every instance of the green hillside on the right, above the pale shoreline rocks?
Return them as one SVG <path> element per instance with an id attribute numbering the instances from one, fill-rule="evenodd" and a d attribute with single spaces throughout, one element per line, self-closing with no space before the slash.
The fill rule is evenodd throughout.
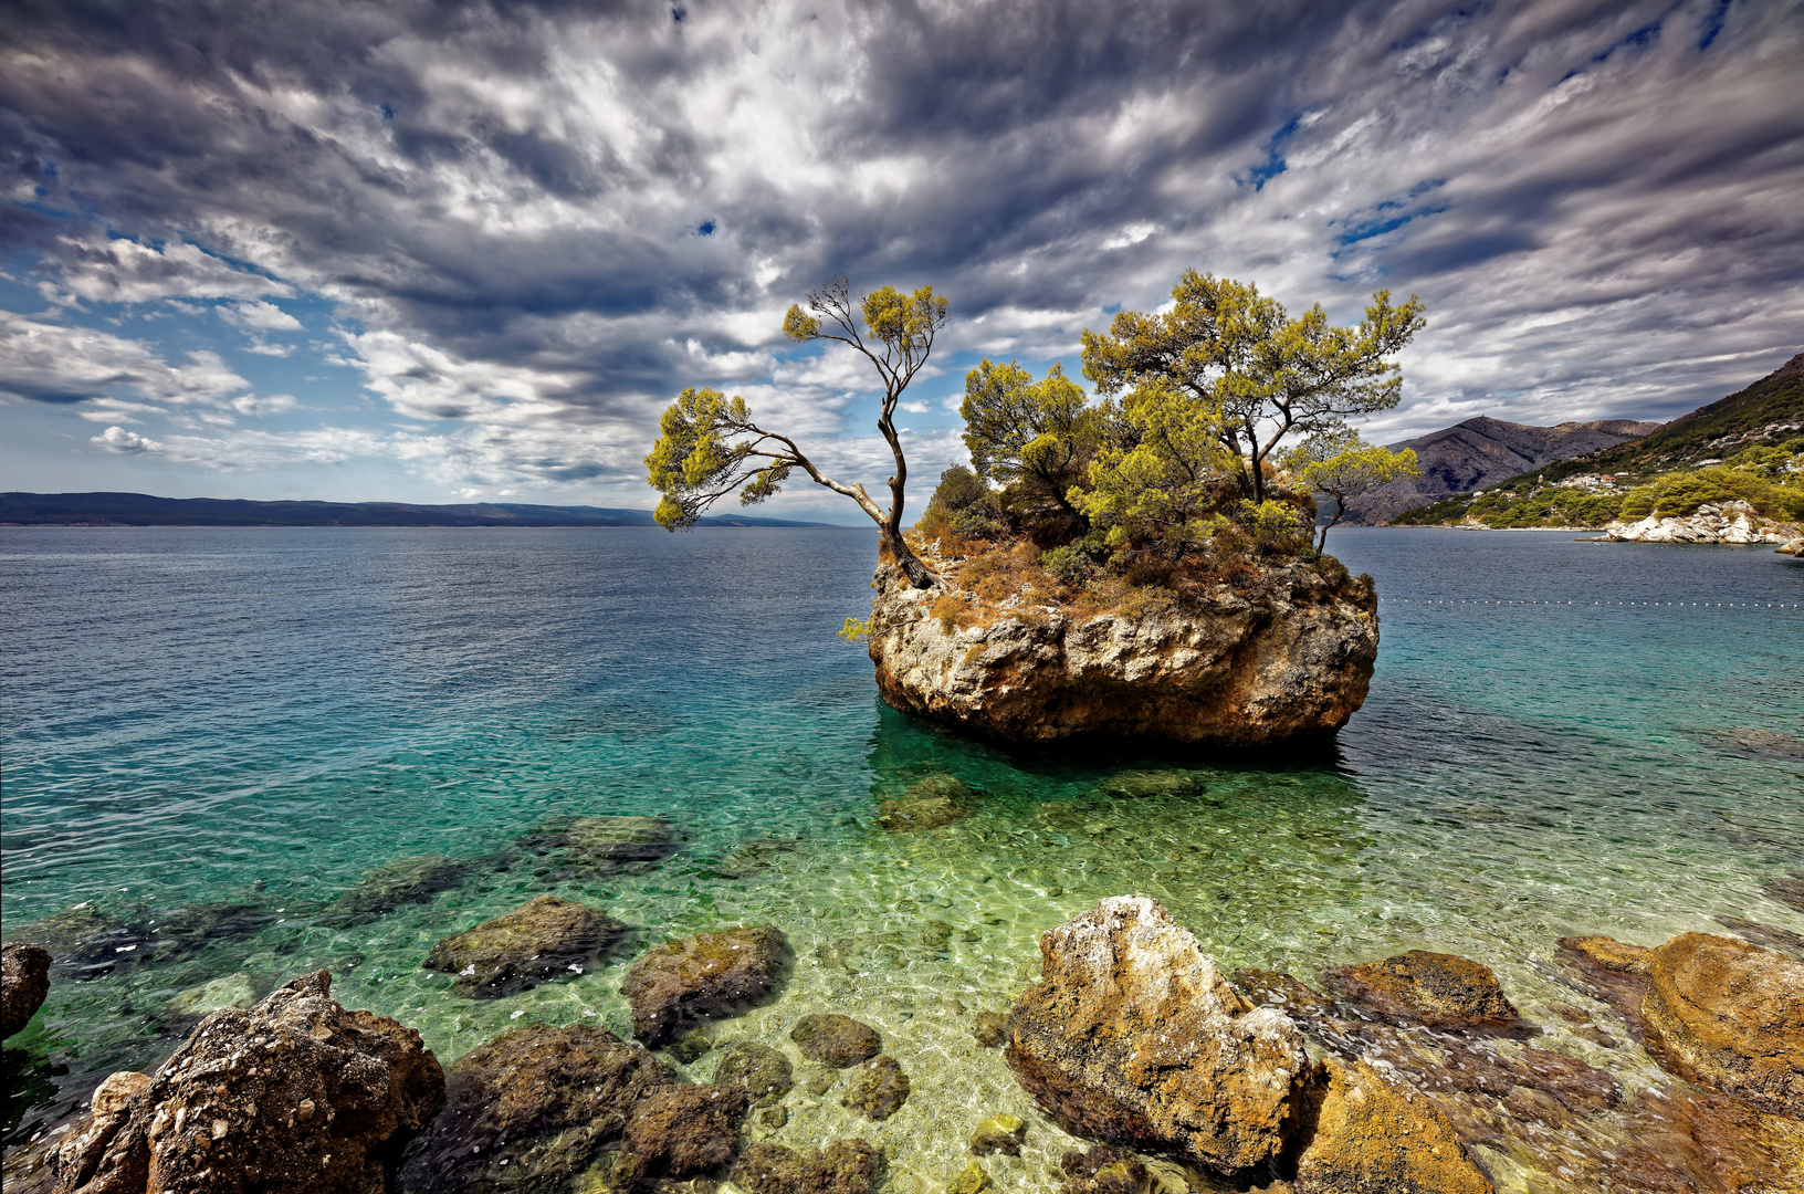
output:
<path id="1" fill-rule="evenodd" d="M 1725 464 L 1730 471 L 1757 469 L 1772 483 L 1793 485 L 1797 473 L 1782 456 L 1799 451 L 1804 451 L 1804 352 L 1746 390 L 1645 436 L 1528 467 L 1486 482 L 1483 494 L 1447 496 L 1393 514 L 1391 521 L 1411 527 L 1468 519 L 1492 527 L 1598 527 L 1624 507 L 1638 509 L 1636 491 L 1671 483 L 1674 474 L 1703 478 Z"/>

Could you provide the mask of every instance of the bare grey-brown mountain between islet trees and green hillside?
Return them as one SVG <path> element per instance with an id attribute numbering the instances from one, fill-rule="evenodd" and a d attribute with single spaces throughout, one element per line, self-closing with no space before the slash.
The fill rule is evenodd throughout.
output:
<path id="1" fill-rule="evenodd" d="M 1501 418 L 1467 418 L 1452 427 L 1414 440 L 1385 444 L 1391 451 L 1411 447 L 1422 476 L 1394 482 L 1348 503 L 1351 523 L 1384 523 L 1404 510 L 1467 494 L 1548 464 L 1613 447 L 1658 431 L 1658 422 L 1600 418 L 1533 427 Z"/>

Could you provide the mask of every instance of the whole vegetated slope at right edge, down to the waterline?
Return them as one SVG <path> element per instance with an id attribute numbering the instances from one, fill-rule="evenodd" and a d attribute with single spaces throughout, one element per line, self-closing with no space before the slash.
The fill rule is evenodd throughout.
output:
<path id="1" fill-rule="evenodd" d="M 1712 501 L 1804 518 L 1804 354 L 1649 436 L 1405 510 L 1396 527 L 1602 527 Z"/>

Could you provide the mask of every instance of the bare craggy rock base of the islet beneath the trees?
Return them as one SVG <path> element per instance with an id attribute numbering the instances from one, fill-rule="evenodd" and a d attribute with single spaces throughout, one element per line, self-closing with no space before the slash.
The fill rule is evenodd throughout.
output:
<path id="1" fill-rule="evenodd" d="M 956 575 L 956 561 L 942 568 Z M 1109 734 L 1268 747 L 1339 730 L 1366 700 L 1378 657 L 1376 597 L 1302 563 L 1277 565 L 1265 595 L 1218 586 L 1203 606 L 1070 615 L 967 606 L 877 570 L 870 655 L 897 709 L 1003 741 Z M 954 595 L 953 601 L 963 595 Z"/>

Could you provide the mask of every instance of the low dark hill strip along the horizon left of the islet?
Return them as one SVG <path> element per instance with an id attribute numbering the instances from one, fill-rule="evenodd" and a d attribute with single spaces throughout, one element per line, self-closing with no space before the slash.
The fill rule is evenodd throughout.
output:
<path id="1" fill-rule="evenodd" d="M 411 501 L 242 501 L 150 494 L 0 494 L 13 527 L 657 527 L 651 510 L 597 505 L 419 505 Z M 704 527 L 830 527 L 720 514 Z"/>

